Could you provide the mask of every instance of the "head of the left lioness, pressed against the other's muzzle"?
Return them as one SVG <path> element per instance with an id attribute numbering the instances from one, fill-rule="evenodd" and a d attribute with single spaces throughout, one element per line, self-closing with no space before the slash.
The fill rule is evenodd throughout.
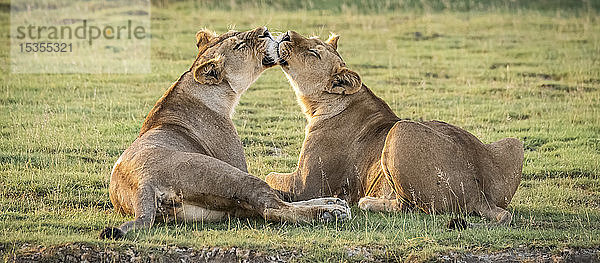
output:
<path id="1" fill-rule="evenodd" d="M 225 81 L 236 93 L 247 89 L 277 59 L 277 44 L 266 27 L 220 36 L 201 30 L 196 33 L 196 45 L 199 52 L 192 66 L 194 79 L 207 85 Z"/>

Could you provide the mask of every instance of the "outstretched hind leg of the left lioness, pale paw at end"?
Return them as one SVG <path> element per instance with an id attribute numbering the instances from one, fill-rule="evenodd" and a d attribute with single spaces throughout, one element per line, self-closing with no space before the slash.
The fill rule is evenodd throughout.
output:
<path id="1" fill-rule="evenodd" d="M 184 197 L 215 196 L 241 201 L 246 210 L 267 220 L 288 222 L 349 219 L 350 209 L 340 205 L 301 205 L 284 202 L 265 181 L 221 160 L 196 153 L 178 153 L 178 186 Z M 198 174 L 201 172 L 202 174 Z M 235 202 L 235 201 L 233 201 Z"/>

